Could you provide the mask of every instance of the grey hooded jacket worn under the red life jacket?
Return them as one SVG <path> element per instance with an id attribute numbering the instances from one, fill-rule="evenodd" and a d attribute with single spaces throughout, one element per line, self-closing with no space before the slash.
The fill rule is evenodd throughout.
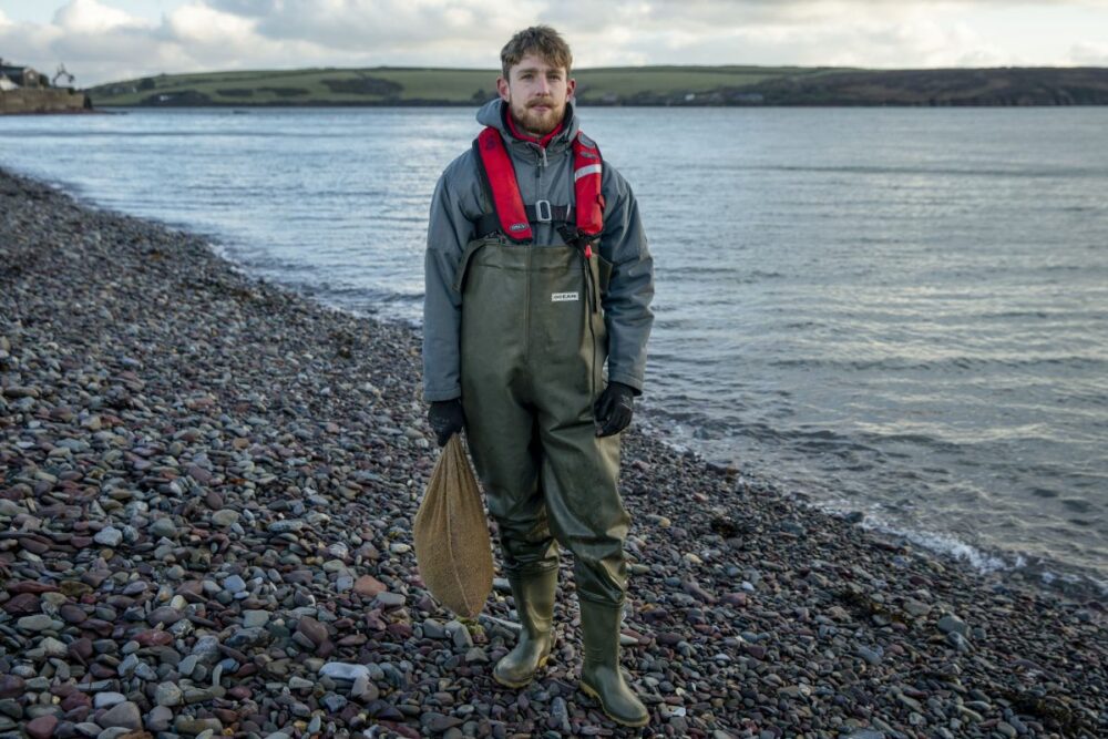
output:
<path id="1" fill-rule="evenodd" d="M 478 111 L 478 122 L 494 126 L 515 165 L 523 202 L 550 201 L 552 205 L 573 205 L 573 152 L 577 116 L 573 103 L 566 105 L 565 126 L 547 144 L 521 141 L 504 126 L 502 101 L 493 100 Z M 603 152 L 603 147 L 601 148 Z M 431 199 L 427 234 L 425 281 L 423 300 L 423 397 L 428 401 L 452 400 L 462 394 L 459 346 L 462 295 L 454 289 L 454 277 L 465 245 L 473 238 L 473 222 L 491 213 L 484 194 L 479 163 L 473 150 L 450 163 L 439 178 Z M 604 232 L 599 255 L 613 265 L 604 321 L 608 332 L 608 380 L 643 390 L 646 367 L 646 341 L 654 315 L 654 260 L 646 245 L 646 234 L 638 217 L 638 205 L 627 182 L 604 162 Z M 535 244 L 563 244 L 552 224 L 532 224 Z"/>

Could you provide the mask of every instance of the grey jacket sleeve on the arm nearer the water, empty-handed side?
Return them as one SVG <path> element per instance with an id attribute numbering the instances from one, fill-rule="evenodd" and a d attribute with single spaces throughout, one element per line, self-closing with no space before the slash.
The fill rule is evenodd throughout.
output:
<path id="1" fill-rule="evenodd" d="M 646 342 L 654 325 L 654 259 L 638 217 L 638 204 L 627 181 L 604 164 L 604 233 L 601 256 L 612 263 L 604 297 L 608 330 L 608 381 L 643 392 Z"/>

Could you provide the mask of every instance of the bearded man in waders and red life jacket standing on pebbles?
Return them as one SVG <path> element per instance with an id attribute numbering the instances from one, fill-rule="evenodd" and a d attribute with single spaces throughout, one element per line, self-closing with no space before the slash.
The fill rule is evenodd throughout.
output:
<path id="1" fill-rule="evenodd" d="M 628 516 L 619 440 L 642 392 L 653 261 L 627 183 L 577 127 L 570 48 L 544 25 L 501 52 L 500 99 L 435 187 L 423 387 L 439 444 L 464 428 L 522 632 L 493 675 L 523 687 L 553 646 L 558 544 L 574 555 L 582 689 L 649 716 L 619 671 Z M 607 382 L 603 373 L 607 360 Z"/>

